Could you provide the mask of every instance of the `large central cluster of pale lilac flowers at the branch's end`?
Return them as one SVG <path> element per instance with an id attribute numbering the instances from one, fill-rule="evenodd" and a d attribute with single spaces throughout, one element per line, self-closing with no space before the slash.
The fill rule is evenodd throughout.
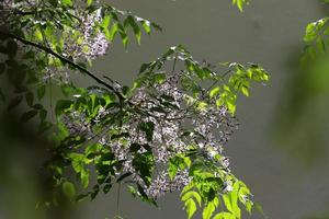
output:
<path id="1" fill-rule="evenodd" d="M 71 134 L 99 137 L 99 143 L 110 148 L 115 159 L 122 162 L 116 175 L 131 173 L 132 178 L 143 185 L 146 194 L 152 198 L 182 188 L 191 181 L 188 170 L 179 170 L 173 180 L 168 172 L 152 174 L 148 186 L 134 166 L 137 154 L 148 150 L 152 154 L 154 170 L 168 164 L 177 154 L 183 154 L 192 148 L 206 159 L 215 159 L 223 169 L 229 172 L 228 158 L 223 155 L 223 146 L 229 140 L 237 122 L 224 106 L 216 106 L 212 101 L 203 108 L 186 103 L 186 94 L 181 89 L 181 73 L 172 73 L 158 83 L 146 83 L 131 96 L 132 106 L 125 113 L 125 123 L 105 126 L 102 132 L 93 132 L 92 126 L 101 124 L 113 111 L 100 107 L 92 123 L 86 124 L 83 115 L 73 113 L 65 117 L 65 124 Z M 138 110 L 136 110 L 138 107 Z M 69 122 L 69 118 L 72 120 Z M 93 125 L 91 125 L 93 124 Z M 110 131 L 109 131 L 110 130 Z M 121 136 L 113 138 L 113 135 Z M 140 146 L 132 151 L 132 146 Z M 147 147 L 145 147 L 147 146 Z M 217 157 L 218 158 L 218 157 Z M 229 189 L 229 186 L 226 186 Z"/>

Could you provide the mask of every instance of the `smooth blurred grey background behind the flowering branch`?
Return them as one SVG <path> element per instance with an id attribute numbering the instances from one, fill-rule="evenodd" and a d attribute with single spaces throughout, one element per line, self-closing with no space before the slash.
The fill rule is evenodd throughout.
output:
<path id="1" fill-rule="evenodd" d="M 251 96 L 240 97 L 238 102 L 237 117 L 241 126 L 225 149 L 232 171 L 249 185 L 256 201 L 262 205 L 269 218 L 329 218 L 329 95 L 324 93 L 317 97 L 318 107 L 313 107 L 313 102 L 307 100 L 303 105 L 307 111 L 298 111 L 299 115 L 292 111 L 286 116 L 293 105 L 285 101 L 298 87 L 292 85 L 292 81 L 298 78 L 294 65 L 303 49 L 305 26 L 326 14 L 324 4 L 317 0 L 252 0 L 245 12 L 239 13 L 230 0 L 107 2 L 163 27 L 162 33 L 141 37 L 141 46 L 131 43 L 127 51 L 117 41 L 107 56 L 95 61 L 95 71 L 124 84 L 133 82 L 140 64 L 155 60 L 177 44 L 184 45 L 200 60 L 214 64 L 252 61 L 264 67 L 272 76 L 269 84 L 254 84 Z M 88 84 L 87 78 L 83 83 Z M 294 116 L 298 123 L 294 123 Z M 32 193 L 29 188 L 26 191 Z M 70 218 L 113 218 L 115 193 L 113 189 L 92 203 L 79 204 L 73 207 L 75 216 Z M 0 196 L 0 212 L 8 210 L 5 205 L 7 199 Z M 27 208 L 26 204 L 21 206 Z M 127 193 L 123 193 L 121 200 L 125 219 L 185 218 L 182 207 L 179 194 L 162 198 L 160 209 L 134 199 Z M 250 218 L 261 216 L 256 214 Z"/>

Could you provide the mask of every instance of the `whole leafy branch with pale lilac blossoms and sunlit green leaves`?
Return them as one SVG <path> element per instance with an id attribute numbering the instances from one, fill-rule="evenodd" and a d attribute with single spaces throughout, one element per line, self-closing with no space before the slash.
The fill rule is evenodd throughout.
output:
<path id="1" fill-rule="evenodd" d="M 234 1 L 239 8 L 243 2 Z M 238 127 L 237 96 L 248 96 L 252 81 L 268 81 L 264 69 L 234 62 L 220 73 L 179 45 L 141 65 L 134 84 L 124 87 L 91 72 L 92 60 L 107 53 L 115 36 L 126 47 L 128 31 L 140 43 L 141 31 L 150 34 L 160 30 L 157 24 L 92 0 L 5 0 L 0 10 L 5 12 L 0 53 L 9 50 L 0 73 L 8 73 L 16 94 L 9 108 L 24 99 L 31 110 L 22 120 L 38 115 L 41 132 L 54 125 L 55 147 L 46 166 L 71 200 L 106 194 L 117 183 L 154 205 L 179 191 L 189 218 L 198 203 L 209 219 L 219 199 L 230 217 L 241 217 L 239 204 L 251 211 L 251 193 L 232 174 L 224 148 Z M 98 85 L 77 88 L 69 77 L 73 71 Z M 66 99 L 53 108 L 47 85 L 54 81 Z M 46 92 L 53 123 L 42 102 Z M 76 196 L 68 180 L 72 171 L 88 193 Z"/>

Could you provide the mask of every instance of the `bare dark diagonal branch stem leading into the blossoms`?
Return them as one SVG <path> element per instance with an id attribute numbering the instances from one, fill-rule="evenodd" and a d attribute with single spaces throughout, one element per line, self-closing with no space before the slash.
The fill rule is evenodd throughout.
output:
<path id="1" fill-rule="evenodd" d="M 45 47 L 45 46 L 42 46 L 39 44 L 33 43 L 33 42 L 30 42 L 30 41 L 27 41 L 25 38 L 22 38 L 20 36 L 14 35 L 12 33 L 5 33 L 5 32 L 0 31 L 0 34 L 4 35 L 4 36 L 8 36 L 10 38 L 14 38 L 14 39 L 16 39 L 16 41 L 19 41 L 19 42 L 21 42 L 21 43 L 23 43 L 25 45 L 33 46 L 33 47 L 38 48 L 38 49 L 41 49 L 41 50 L 43 50 L 43 51 L 45 51 L 47 54 L 50 54 L 50 55 L 55 56 L 56 58 L 60 59 L 63 62 L 68 64 L 71 67 L 80 70 L 83 73 L 86 73 L 87 76 L 89 76 L 90 78 L 92 78 L 94 81 L 97 81 L 99 84 L 102 84 L 105 88 L 107 88 L 109 90 L 113 91 L 121 101 L 125 100 L 125 96 L 121 92 L 118 92 L 113 85 L 106 83 L 102 79 L 98 78 L 94 73 L 92 73 L 89 70 L 87 70 L 86 68 L 83 68 L 82 66 L 80 66 L 80 65 L 76 64 L 75 61 L 72 61 L 72 60 L 64 57 L 60 54 L 57 54 L 53 49 L 50 49 L 48 47 Z"/>

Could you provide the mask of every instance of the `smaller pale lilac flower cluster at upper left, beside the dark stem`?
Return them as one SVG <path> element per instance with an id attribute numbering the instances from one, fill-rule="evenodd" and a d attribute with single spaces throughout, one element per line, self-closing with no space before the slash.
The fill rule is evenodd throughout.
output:
<path id="1" fill-rule="evenodd" d="M 0 7 L 3 9 L 0 12 L 0 28 L 2 26 L 5 28 L 12 28 L 16 26 L 14 23 L 10 23 L 12 21 L 1 19 L 2 16 L 5 18 L 5 14 L 10 14 L 15 10 L 22 12 L 31 11 L 30 9 L 34 10 L 36 7 L 39 7 L 43 3 L 43 1 L 38 0 L 24 0 L 20 2 L 15 2 L 13 0 L 0 1 Z M 81 5 L 83 5 L 82 3 L 83 2 L 80 2 Z M 76 1 L 75 4 L 78 5 L 79 2 Z M 59 49 L 60 55 L 68 59 L 72 59 L 76 62 L 91 61 L 100 56 L 104 56 L 109 49 L 110 42 L 99 26 L 103 20 L 101 8 L 89 13 L 83 9 L 83 7 L 77 7 L 76 10 L 70 11 L 70 14 L 76 18 L 76 20 L 72 20 L 71 25 L 61 26 L 57 33 L 52 34 L 53 38 L 47 38 L 45 33 L 39 33 L 42 36 L 36 37 L 34 41 L 38 42 L 39 44 L 44 44 L 43 46 L 49 47 L 54 51 L 58 51 Z M 52 22 L 53 21 L 50 21 L 50 23 Z M 37 34 L 35 33 L 39 32 L 39 24 L 44 26 L 46 21 L 43 18 L 33 19 L 33 23 L 30 23 L 27 26 L 23 27 L 23 31 L 36 36 Z M 57 25 L 57 23 L 54 22 L 52 25 Z M 56 41 L 58 42 L 54 43 L 54 39 L 56 38 L 55 36 L 57 36 Z M 65 41 L 61 42 L 63 38 L 65 38 Z M 19 46 L 21 47 L 21 44 L 19 44 Z M 69 72 L 71 72 L 71 70 L 67 67 L 60 67 L 60 65 L 58 65 L 60 61 L 56 60 L 56 58 L 52 55 L 48 55 L 47 59 L 47 67 L 42 70 L 43 82 L 47 83 L 54 79 L 59 83 L 67 83 L 69 81 Z"/>

